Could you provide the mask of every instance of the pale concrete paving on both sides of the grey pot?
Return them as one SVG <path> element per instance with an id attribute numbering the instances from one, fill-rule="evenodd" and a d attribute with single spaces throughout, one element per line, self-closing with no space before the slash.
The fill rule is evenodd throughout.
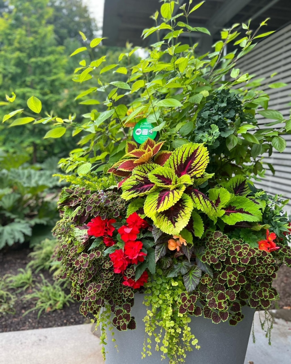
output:
<path id="1" fill-rule="evenodd" d="M 244 364 L 291 363 L 291 312 L 286 311 L 274 312 L 271 346 L 256 312 L 256 343 L 250 337 Z M 90 324 L 0 333 L 0 364 L 103 364 L 100 351 Z"/>

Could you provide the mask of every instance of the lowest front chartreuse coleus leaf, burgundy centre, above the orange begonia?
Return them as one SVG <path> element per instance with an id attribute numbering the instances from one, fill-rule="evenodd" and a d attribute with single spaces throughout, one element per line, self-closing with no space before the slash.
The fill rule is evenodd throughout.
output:
<path id="1" fill-rule="evenodd" d="M 183 227 L 187 226 L 192 210 L 192 199 L 184 193 L 175 205 L 168 210 L 156 213 L 152 216 L 152 220 L 164 233 L 179 235 Z"/>

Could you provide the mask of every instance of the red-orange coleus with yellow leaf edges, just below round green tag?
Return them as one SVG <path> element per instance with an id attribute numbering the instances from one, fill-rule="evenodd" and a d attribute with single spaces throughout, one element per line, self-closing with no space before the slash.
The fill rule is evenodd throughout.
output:
<path id="1" fill-rule="evenodd" d="M 156 143 L 153 139 L 148 138 L 138 147 L 136 142 L 127 141 L 125 155 L 108 170 L 108 173 L 119 177 L 128 177 L 135 167 L 146 163 L 154 162 L 162 166 L 172 154 L 170 151 L 160 150 L 163 144 L 164 142 Z M 124 179 L 119 182 L 118 187 L 123 182 Z"/>

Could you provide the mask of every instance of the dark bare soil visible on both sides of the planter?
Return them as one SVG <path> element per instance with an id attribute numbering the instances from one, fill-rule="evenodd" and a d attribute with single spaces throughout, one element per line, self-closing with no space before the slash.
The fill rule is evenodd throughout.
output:
<path id="1" fill-rule="evenodd" d="M 31 251 L 31 249 L 22 249 L 6 253 L 0 252 L 0 279 L 7 273 L 17 274 L 17 269 L 24 269 L 30 260 L 28 254 Z M 36 282 L 41 282 L 40 273 L 48 281 L 53 282 L 51 274 L 47 271 L 40 271 L 35 274 Z M 271 308 L 291 309 L 291 268 L 282 266 L 277 273 L 277 278 L 274 280 L 273 286 L 280 294 L 280 300 L 274 302 Z M 79 302 L 70 303 L 69 306 L 64 306 L 61 310 L 42 313 L 39 319 L 37 318 L 36 311 L 29 312 L 23 316 L 28 309 L 34 306 L 34 301 L 23 302 L 20 299 L 25 293 L 29 292 L 31 290 L 28 288 L 25 292 L 21 291 L 16 294 L 18 300 L 15 305 L 15 314 L 0 314 L 0 332 L 78 325 L 90 322 L 80 314 Z M 67 293 L 69 293 L 69 290 Z"/>

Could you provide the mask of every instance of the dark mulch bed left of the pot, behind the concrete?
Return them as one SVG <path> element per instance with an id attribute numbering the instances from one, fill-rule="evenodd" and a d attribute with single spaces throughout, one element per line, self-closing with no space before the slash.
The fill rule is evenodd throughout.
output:
<path id="1" fill-rule="evenodd" d="M 17 274 L 17 269 L 24 269 L 26 264 L 29 262 L 27 255 L 31 251 L 31 249 L 22 249 L 9 251 L 7 253 L 0 252 L 0 279 L 2 279 L 4 274 Z M 53 282 L 52 275 L 49 272 L 40 271 L 39 273 L 42 273 L 49 282 Z M 41 277 L 39 273 L 35 274 L 35 278 L 36 282 L 40 283 Z M 30 293 L 29 289 L 26 289 L 25 292 L 21 291 L 17 293 L 17 297 L 20 298 L 25 293 Z M 23 316 L 24 312 L 33 306 L 33 301 L 23 302 L 20 299 L 17 300 L 15 305 L 15 314 L 5 314 L 2 316 L 0 314 L 0 332 L 79 325 L 89 322 L 88 319 L 80 314 L 79 302 L 71 302 L 69 307 L 64 306 L 61 310 L 42 313 L 39 319 L 37 318 L 36 311 L 29 312 L 27 315 Z"/>

